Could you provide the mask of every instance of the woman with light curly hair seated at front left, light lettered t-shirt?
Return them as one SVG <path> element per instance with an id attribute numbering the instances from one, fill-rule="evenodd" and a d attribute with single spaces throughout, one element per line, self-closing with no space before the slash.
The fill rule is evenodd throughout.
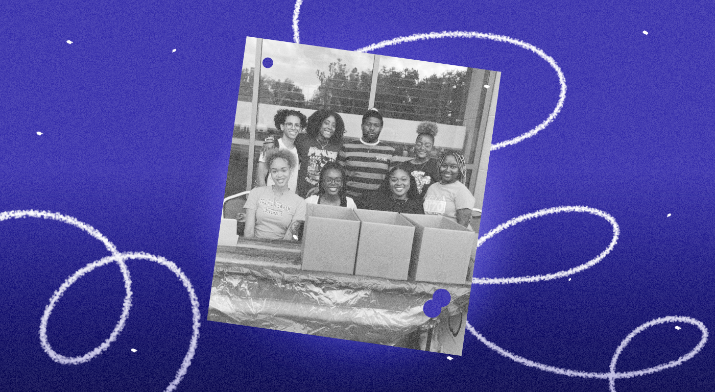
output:
<path id="1" fill-rule="evenodd" d="M 272 149 L 265 154 L 265 164 L 273 184 L 248 194 L 244 236 L 295 239 L 305 221 L 305 200 L 288 188 L 297 161 L 290 151 Z"/>

